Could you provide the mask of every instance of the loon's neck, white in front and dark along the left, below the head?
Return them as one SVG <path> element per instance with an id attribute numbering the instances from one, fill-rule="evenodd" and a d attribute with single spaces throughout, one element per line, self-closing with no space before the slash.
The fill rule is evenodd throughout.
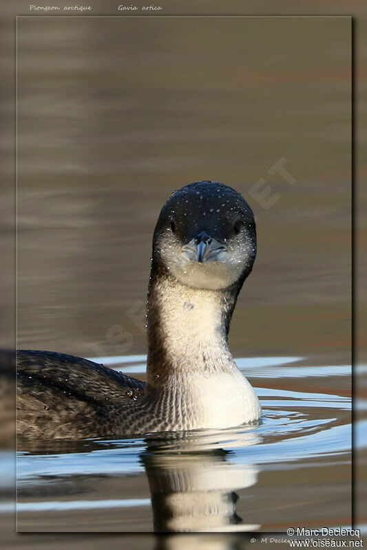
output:
<path id="1" fill-rule="evenodd" d="M 182 285 L 153 265 L 147 307 L 147 388 L 164 390 L 191 373 L 226 372 L 227 346 L 238 291 L 200 290 Z"/>

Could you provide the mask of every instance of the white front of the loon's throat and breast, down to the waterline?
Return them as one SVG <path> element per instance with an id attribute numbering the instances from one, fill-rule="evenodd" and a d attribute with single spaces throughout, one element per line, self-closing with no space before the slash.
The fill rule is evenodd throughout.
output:
<path id="1" fill-rule="evenodd" d="M 160 344 L 169 366 L 160 369 L 160 364 L 148 361 L 148 382 L 153 393 L 178 389 L 175 400 L 180 400 L 180 410 L 185 409 L 178 429 L 225 428 L 259 419 L 258 398 L 227 346 L 224 296 L 187 287 L 174 278 L 158 281 L 153 292 Z"/>

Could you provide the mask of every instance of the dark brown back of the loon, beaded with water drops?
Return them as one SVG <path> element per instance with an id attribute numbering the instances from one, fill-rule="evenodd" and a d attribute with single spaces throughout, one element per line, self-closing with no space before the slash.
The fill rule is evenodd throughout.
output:
<path id="1" fill-rule="evenodd" d="M 101 435 L 110 410 L 143 398 L 145 382 L 102 364 L 50 351 L 17 352 L 20 436 Z"/>

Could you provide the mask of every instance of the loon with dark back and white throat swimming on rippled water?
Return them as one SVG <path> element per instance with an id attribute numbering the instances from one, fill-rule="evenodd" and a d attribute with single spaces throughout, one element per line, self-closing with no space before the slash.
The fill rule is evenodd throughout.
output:
<path id="1" fill-rule="evenodd" d="M 227 345 L 255 255 L 253 212 L 238 192 L 213 181 L 176 190 L 153 236 L 146 384 L 71 355 L 19 351 L 19 434 L 71 439 L 258 421 L 258 397 Z"/>

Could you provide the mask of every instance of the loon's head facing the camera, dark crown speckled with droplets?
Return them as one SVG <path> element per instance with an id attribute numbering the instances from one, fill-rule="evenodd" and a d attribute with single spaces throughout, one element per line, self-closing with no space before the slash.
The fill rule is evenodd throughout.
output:
<path id="1" fill-rule="evenodd" d="M 229 186 L 198 181 L 163 206 L 153 237 L 153 262 L 183 285 L 219 290 L 242 285 L 256 255 L 253 212 Z"/>

